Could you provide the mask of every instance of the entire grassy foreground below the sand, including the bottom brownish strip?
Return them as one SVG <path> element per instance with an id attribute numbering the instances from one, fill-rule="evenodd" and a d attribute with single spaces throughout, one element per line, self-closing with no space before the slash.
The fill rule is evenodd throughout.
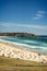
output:
<path id="1" fill-rule="evenodd" d="M 0 57 L 0 71 L 47 71 L 47 63 Z"/>

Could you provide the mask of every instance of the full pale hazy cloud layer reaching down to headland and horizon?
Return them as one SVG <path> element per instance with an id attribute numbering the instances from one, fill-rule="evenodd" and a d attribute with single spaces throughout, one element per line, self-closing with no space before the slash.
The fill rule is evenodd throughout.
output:
<path id="1" fill-rule="evenodd" d="M 0 32 L 23 32 L 47 35 L 47 25 L 2 23 L 0 24 Z"/>

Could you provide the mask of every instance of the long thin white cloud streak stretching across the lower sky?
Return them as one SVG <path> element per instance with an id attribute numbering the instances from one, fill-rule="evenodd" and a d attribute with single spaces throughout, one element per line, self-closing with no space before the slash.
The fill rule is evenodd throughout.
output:
<path id="1" fill-rule="evenodd" d="M 17 24 L 17 23 L 3 23 L 0 26 L 7 27 L 7 28 L 15 28 L 15 27 L 27 27 L 27 28 L 37 28 L 37 29 L 47 29 L 47 25 L 31 25 L 31 24 Z"/>

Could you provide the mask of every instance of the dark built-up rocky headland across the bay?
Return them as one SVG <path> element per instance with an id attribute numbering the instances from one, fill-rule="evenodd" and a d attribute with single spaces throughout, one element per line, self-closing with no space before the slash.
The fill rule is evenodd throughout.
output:
<path id="1" fill-rule="evenodd" d="M 35 37 L 36 35 L 28 33 L 0 33 L 0 36 Z"/>

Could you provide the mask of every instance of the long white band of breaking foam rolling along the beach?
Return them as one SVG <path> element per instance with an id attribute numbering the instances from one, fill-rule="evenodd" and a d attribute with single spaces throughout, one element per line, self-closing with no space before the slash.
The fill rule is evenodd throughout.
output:
<path id="1" fill-rule="evenodd" d="M 30 48 L 42 48 L 42 49 L 47 49 L 46 47 L 39 47 L 39 46 L 30 46 L 30 45 L 26 45 L 26 44 L 20 44 L 20 43 L 14 43 L 14 42 L 9 42 L 9 40 L 4 40 L 4 39 L 0 39 L 0 42 L 4 42 L 4 43 L 8 43 L 8 44 L 12 44 L 12 45 L 15 45 L 15 46 L 23 46 L 23 47 L 30 47 Z"/>

